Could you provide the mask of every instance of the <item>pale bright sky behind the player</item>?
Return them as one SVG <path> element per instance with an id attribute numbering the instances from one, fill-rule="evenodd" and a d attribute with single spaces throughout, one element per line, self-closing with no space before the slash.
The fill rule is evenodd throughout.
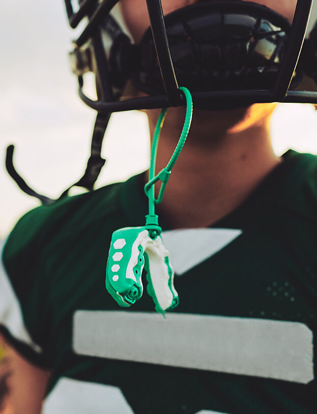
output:
<path id="1" fill-rule="evenodd" d="M 17 187 L 5 170 L 13 143 L 16 169 L 38 192 L 58 197 L 85 170 L 95 113 L 77 96 L 68 51 L 75 37 L 64 2 L 0 2 L 0 238 L 39 202 Z M 317 112 L 284 104 L 272 119 L 276 153 L 288 148 L 317 153 Z M 97 187 L 123 180 L 148 166 L 146 117 L 136 111 L 114 114 L 105 136 L 107 159 Z"/>

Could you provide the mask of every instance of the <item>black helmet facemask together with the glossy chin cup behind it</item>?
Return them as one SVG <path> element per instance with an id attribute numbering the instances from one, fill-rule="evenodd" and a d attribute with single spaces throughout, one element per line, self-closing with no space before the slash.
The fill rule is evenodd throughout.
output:
<path id="1" fill-rule="evenodd" d="M 98 112 L 183 105 L 178 85 L 193 92 L 196 108 L 283 101 L 290 82 L 292 89 L 299 83 L 303 66 L 296 76 L 294 70 L 310 0 L 298 0 L 293 25 L 274 10 L 240 0 L 204 0 L 162 19 L 160 0 L 148 0 L 151 28 L 138 44 L 120 29 L 122 23 L 115 23 L 110 13 L 115 3 L 97 3 L 87 28 L 75 41 L 81 49 L 93 37 L 102 39 L 107 61 L 102 76 L 107 77 L 110 99 L 92 101 L 85 96 L 80 76 L 80 96 Z M 148 96 L 126 99 L 125 86 L 131 83 Z M 292 92 L 286 100 L 302 98 L 303 94 Z"/>

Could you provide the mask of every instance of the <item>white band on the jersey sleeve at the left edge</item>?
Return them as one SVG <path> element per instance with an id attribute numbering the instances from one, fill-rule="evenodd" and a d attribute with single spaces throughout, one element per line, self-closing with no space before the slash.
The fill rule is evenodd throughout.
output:
<path id="1" fill-rule="evenodd" d="M 14 338 L 29 345 L 36 352 L 41 352 L 41 348 L 32 341 L 24 325 L 20 303 L 3 263 L 4 246 L 5 242 L 0 241 L 0 324 L 4 325 Z"/>

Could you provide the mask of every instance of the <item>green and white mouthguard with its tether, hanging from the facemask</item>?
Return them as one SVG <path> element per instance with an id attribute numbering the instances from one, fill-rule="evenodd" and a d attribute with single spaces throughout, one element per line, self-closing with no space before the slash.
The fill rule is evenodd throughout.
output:
<path id="1" fill-rule="evenodd" d="M 155 310 L 164 315 L 165 311 L 178 304 L 178 294 L 174 288 L 174 271 L 170 254 L 161 237 L 162 228 L 158 225 L 155 204 L 162 201 L 164 191 L 171 175 L 171 170 L 179 157 L 180 151 L 189 133 L 193 101 L 187 88 L 180 88 L 186 97 L 187 109 L 184 126 L 165 168 L 155 175 L 155 162 L 158 139 L 162 130 L 167 108 L 162 109 L 158 117 L 151 150 L 149 181 L 144 187 L 149 199 L 149 212 L 145 225 L 141 227 L 124 227 L 114 231 L 109 250 L 105 286 L 108 292 L 123 307 L 136 303 L 143 294 L 142 271 L 146 272 L 147 292 L 152 297 Z M 154 185 L 161 180 L 158 198 L 155 199 Z"/>

